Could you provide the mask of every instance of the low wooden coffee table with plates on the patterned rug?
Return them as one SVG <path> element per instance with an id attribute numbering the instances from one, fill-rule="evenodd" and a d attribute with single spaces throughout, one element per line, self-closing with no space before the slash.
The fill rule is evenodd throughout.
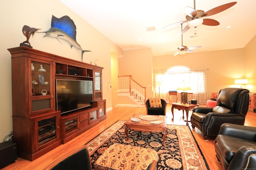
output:
<path id="1" fill-rule="evenodd" d="M 126 141 L 128 141 L 128 129 L 133 129 L 136 131 L 144 131 L 144 132 L 162 132 L 163 133 L 163 145 L 166 146 L 165 139 L 166 139 L 166 116 L 162 115 L 138 115 L 135 114 L 132 117 L 134 118 L 140 118 L 141 120 L 138 123 L 135 123 L 129 119 L 124 123 L 125 125 L 125 134 L 126 134 Z M 163 123 L 160 124 L 153 124 L 150 123 L 150 120 L 143 120 L 147 118 L 156 118 L 155 121 L 163 121 Z"/>

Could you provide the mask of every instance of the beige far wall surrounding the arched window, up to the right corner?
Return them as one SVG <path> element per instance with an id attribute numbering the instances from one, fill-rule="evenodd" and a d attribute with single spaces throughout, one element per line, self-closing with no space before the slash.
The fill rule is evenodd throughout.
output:
<path id="1" fill-rule="evenodd" d="M 218 92 L 226 87 L 238 87 L 234 85 L 234 79 L 244 76 L 244 51 L 232 49 L 188 53 L 183 57 L 181 55 L 153 57 L 154 71 L 165 71 L 175 65 L 188 66 L 190 69 L 208 69 L 208 98 L 211 98 L 212 92 Z"/>

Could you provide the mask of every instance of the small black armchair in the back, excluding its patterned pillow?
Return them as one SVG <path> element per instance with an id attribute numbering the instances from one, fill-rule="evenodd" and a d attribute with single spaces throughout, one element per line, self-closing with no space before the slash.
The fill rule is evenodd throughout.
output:
<path id="1" fill-rule="evenodd" d="M 166 115 L 166 100 L 161 99 L 161 104 L 162 107 L 150 107 L 149 100 L 146 100 L 145 105 L 147 115 Z"/>

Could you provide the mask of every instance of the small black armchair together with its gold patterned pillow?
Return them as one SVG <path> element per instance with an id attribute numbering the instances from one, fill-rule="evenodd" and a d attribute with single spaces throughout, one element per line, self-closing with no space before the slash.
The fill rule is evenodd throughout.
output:
<path id="1" fill-rule="evenodd" d="M 158 106 L 154 105 L 150 107 L 150 100 L 155 100 L 159 102 Z M 160 101 L 161 101 L 161 104 L 160 104 Z M 146 106 L 147 115 L 166 115 L 167 102 L 164 99 L 150 98 L 146 100 L 145 106 Z"/>

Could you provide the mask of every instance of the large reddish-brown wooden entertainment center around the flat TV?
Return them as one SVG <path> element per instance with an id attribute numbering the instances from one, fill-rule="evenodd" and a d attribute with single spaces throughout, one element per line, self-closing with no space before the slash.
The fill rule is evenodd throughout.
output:
<path id="1" fill-rule="evenodd" d="M 12 60 L 13 142 L 18 157 L 35 160 L 106 119 L 102 67 L 28 47 L 8 49 Z M 93 81 L 93 105 L 61 115 L 56 79 Z"/>

